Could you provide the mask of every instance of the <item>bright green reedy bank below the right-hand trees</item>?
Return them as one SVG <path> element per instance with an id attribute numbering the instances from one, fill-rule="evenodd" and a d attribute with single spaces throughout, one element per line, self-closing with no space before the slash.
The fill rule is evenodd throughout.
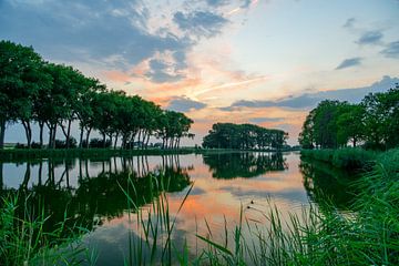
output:
<path id="1" fill-rule="evenodd" d="M 300 154 L 307 161 L 321 161 L 338 168 L 361 170 L 370 167 L 379 153 L 362 149 L 339 149 L 339 150 L 301 150 Z"/>

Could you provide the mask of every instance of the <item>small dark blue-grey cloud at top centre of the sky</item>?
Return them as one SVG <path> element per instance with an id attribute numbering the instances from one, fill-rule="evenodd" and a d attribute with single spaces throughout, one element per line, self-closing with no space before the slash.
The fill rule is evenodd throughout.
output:
<path id="1" fill-rule="evenodd" d="M 221 33 L 222 28 L 228 22 L 223 16 L 211 11 L 175 12 L 173 21 L 186 33 L 195 37 L 211 38 Z"/>

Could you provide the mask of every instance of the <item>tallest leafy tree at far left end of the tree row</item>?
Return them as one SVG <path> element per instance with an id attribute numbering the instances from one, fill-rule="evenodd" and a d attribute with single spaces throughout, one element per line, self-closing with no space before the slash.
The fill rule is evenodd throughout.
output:
<path id="1" fill-rule="evenodd" d="M 42 59 L 31 47 L 0 41 L 0 149 L 7 122 L 21 121 L 30 146 L 33 101 L 50 84 Z"/>

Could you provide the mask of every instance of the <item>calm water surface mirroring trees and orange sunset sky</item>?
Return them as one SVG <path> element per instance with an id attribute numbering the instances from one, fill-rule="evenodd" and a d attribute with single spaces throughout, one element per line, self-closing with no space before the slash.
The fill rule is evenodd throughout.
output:
<path id="1" fill-rule="evenodd" d="M 176 217 L 174 243 L 187 241 L 192 253 L 204 246 L 196 233 L 212 233 L 213 239 L 222 241 L 225 223 L 232 231 L 241 208 L 246 218 L 266 223 L 263 213 L 270 204 L 287 218 L 288 213 L 300 213 L 311 202 L 328 198 L 345 211 L 351 200 L 342 182 L 349 180 L 346 173 L 301 162 L 298 153 L 47 160 L 0 163 L 0 170 L 2 194 L 33 193 L 28 200 L 31 205 L 44 201 L 45 212 L 51 215 L 48 227 L 63 221 L 66 212 L 68 223 L 90 228 L 83 239 L 99 253 L 99 265 L 123 264 L 131 252 L 132 236 L 143 237 L 137 223 L 129 217 L 135 215 L 127 211 L 123 190 L 130 190 L 133 203 L 144 211 L 151 211 L 152 203 L 165 193 L 171 215 Z M 344 178 L 338 182 L 337 176 Z M 156 184 L 163 184 L 162 188 Z"/>

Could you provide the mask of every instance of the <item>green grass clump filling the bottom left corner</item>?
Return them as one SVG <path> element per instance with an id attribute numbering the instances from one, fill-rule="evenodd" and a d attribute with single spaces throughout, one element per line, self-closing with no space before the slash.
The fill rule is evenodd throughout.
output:
<path id="1" fill-rule="evenodd" d="M 28 195 L 29 197 L 30 195 Z M 88 265 L 95 264 L 95 254 L 89 252 L 80 241 L 88 233 L 74 225 L 59 223 L 52 232 L 45 232 L 45 216 L 42 206 L 28 206 L 29 198 L 19 195 L 2 197 L 0 209 L 0 265 Z M 19 215 L 18 208 L 23 208 Z M 71 231 L 65 237 L 65 231 Z"/>

